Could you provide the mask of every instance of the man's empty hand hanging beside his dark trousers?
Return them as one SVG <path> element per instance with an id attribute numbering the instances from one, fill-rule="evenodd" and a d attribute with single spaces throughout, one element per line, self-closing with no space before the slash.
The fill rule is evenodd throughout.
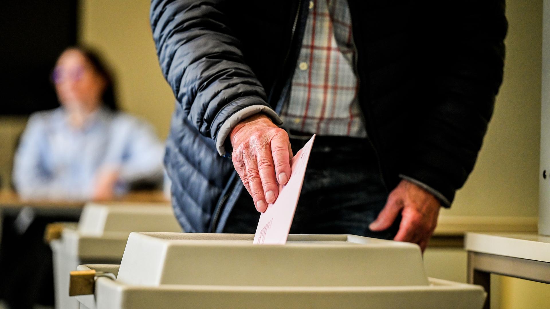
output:
<path id="1" fill-rule="evenodd" d="M 423 252 L 436 228 L 440 206 L 430 192 L 410 181 L 401 180 L 369 228 L 373 231 L 385 230 L 401 213 L 399 231 L 393 240 L 413 242 Z"/>

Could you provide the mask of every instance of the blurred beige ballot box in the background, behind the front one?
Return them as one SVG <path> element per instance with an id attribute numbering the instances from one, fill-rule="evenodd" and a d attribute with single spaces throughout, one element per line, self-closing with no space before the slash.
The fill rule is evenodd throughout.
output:
<path id="1" fill-rule="evenodd" d="M 120 263 L 132 231 L 182 231 L 169 203 L 87 203 L 78 224 L 59 227 L 50 241 L 57 309 L 79 308 L 69 297 L 69 272 L 83 263 Z"/>

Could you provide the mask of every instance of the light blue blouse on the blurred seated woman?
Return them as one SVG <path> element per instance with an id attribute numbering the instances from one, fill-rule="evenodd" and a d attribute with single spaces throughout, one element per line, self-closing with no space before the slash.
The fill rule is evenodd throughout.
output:
<path id="1" fill-rule="evenodd" d="M 15 154 L 13 179 L 24 198 L 89 200 L 102 168 L 117 168 L 117 194 L 134 181 L 162 181 L 164 146 L 151 126 L 101 108 L 81 129 L 62 107 L 32 114 Z"/>

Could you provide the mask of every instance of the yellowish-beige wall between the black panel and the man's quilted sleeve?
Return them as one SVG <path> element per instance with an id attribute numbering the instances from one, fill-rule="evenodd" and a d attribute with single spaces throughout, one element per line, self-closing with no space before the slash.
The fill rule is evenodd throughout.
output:
<path id="1" fill-rule="evenodd" d="M 79 37 L 112 65 L 124 111 L 149 120 L 164 139 L 174 98 L 157 62 L 149 5 L 147 0 L 81 0 Z"/>

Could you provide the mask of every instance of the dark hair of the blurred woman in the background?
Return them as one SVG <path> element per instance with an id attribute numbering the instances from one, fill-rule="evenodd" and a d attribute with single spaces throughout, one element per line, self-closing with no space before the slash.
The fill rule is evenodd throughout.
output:
<path id="1" fill-rule="evenodd" d="M 63 52 L 69 51 L 71 49 L 79 51 L 90 62 L 96 73 L 101 75 L 101 77 L 105 79 L 105 89 L 103 90 L 101 100 L 107 108 L 111 109 L 111 111 L 119 111 L 120 108 L 118 107 L 118 102 L 114 94 L 113 75 L 111 74 L 111 71 L 109 70 L 105 61 L 103 61 L 103 59 L 101 58 L 100 53 L 90 47 L 84 46 L 68 47 Z"/>

